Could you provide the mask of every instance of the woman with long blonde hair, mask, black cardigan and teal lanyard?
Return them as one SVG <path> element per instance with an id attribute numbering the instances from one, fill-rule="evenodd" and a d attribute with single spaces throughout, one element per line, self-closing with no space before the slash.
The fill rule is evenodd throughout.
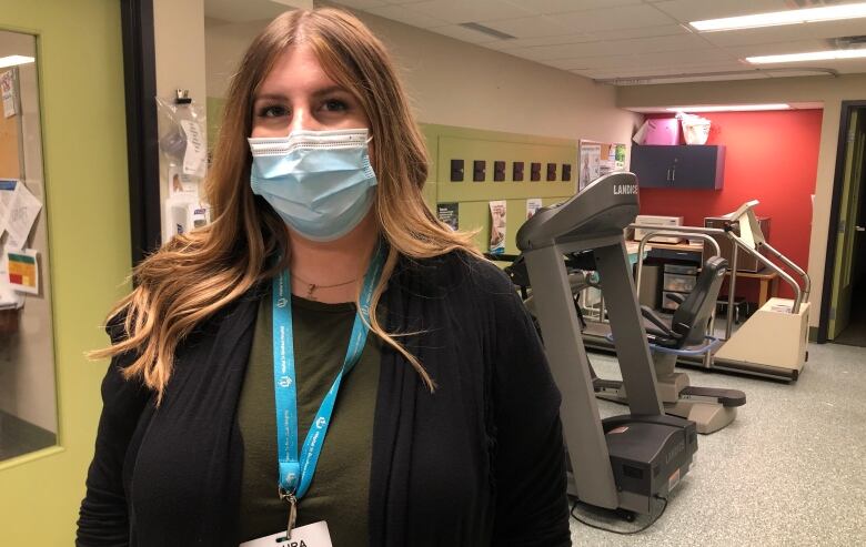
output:
<path id="1" fill-rule="evenodd" d="M 293 11 L 253 41 L 214 222 L 110 316 L 79 545 L 322 521 L 339 547 L 570 545 L 558 392 L 508 280 L 424 205 L 426 168 L 360 21 Z"/>

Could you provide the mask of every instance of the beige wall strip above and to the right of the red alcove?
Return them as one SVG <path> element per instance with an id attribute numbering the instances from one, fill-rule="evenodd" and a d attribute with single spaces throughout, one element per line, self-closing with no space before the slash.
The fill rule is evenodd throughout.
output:
<path id="1" fill-rule="evenodd" d="M 838 78 L 774 78 L 735 82 L 633 85 L 618 89 L 616 104 L 621 108 L 638 108 L 814 101 L 824 103 L 818 172 L 815 183 L 815 207 L 810 226 L 807 229 L 804 221 L 803 230 L 803 236 L 809 237 L 808 273 L 813 287 L 809 300 L 814 310 L 809 316 L 809 325 L 818 326 L 840 107 L 842 101 L 863 99 L 866 99 L 866 74 Z M 779 152 L 784 153 L 784 151 Z"/>

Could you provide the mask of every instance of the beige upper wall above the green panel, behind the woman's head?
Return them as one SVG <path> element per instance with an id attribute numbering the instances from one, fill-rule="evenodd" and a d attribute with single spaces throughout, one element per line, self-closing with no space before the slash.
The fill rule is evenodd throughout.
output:
<path id="1" fill-rule="evenodd" d="M 638 117 L 615 89 L 497 51 L 359 13 L 393 54 L 419 121 L 570 139 L 628 142 Z M 205 24 L 208 97 L 224 97 L 253 36 L 265 24 Z"/>

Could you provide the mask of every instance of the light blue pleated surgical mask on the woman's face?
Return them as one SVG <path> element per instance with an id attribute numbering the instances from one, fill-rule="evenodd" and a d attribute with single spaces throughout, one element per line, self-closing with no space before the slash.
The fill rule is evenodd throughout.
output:
<path id="1" fill-rule="evenodd" d="M 313 241 L 333 241 L 366 216 L 375 197 L 367 130 L 293 131 L 251 138 L 252 191 L 289 226 Z"/>

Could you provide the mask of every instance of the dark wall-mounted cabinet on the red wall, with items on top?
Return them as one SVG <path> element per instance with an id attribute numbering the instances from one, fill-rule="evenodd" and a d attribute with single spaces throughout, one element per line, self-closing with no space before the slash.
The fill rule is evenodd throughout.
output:
<path id="1" fill-rule="evenodd" d="M 641 188 L 721 190 L 725 178 L 725 146 L 632 146 L 632 172 Z"/>

